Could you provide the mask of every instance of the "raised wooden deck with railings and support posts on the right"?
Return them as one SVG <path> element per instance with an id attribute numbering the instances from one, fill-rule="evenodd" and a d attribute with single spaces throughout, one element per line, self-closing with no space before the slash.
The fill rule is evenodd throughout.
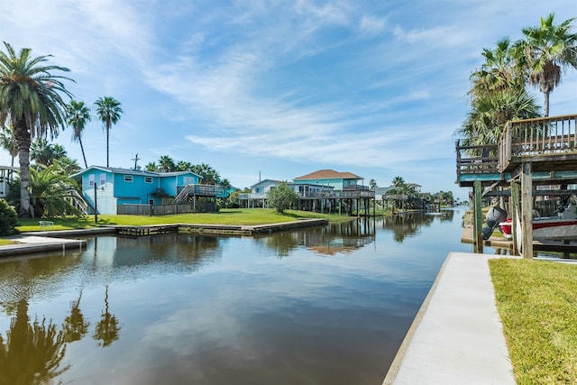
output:
<path id="1" fill-rule="evenodd" d="M 567 197 L 577 195 L 577 115 L 509 122 L 499 143 L 463 146 L 457 141 L 456 152 L 457 183 L 473 188 L 475 252 L 482 252 L 483 197 L 509 197 L 509 215 L 530 224 L 535 197 L 560 197 L 557 203 L 566 205 Z M 519 244 L 515 241 L 513 249 L 532 258 L 531 225 L 522 228 L 525 230 L 515 238 Z"/>

